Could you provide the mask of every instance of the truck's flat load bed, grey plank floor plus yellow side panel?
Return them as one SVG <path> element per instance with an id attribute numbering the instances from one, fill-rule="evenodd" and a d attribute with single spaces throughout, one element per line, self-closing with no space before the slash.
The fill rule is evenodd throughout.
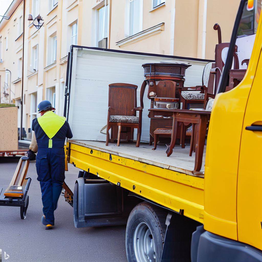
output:
<path id="1" fill-rule="evenodd" d="M 68 162 L 74 166 L 203 223 L 204 164 L 201 173 L 193 174 L 195 156 L 189 156 L 189 146 L 176 146 L 170 157 L 165 145 L 151 148 L 145 143 L 136 148 L 135 143 L 67 142 Z"/>

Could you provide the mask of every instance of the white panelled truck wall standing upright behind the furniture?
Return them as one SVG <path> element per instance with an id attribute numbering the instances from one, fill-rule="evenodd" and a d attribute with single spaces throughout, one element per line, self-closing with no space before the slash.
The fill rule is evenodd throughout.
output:
<path id="1" fill-rule="evenodd" d="M 107 122 L 108 85 L 130 83 L 138 86 L 137 106 L 140 106 L 140 87 L 144 81 L 144 63 L 185 63 L 192 64 L 186 70 L 185 86 L 202 84 L 202 73 L 207 62 L 177 60 L 166 57 L 125 54 L 92 49 L 73 51 L 72 79 L 68 122 L 74 140 L 106 141 L 100 133 Z M 148 89 L 144 94 L 141 141 L 149 141 L 150 100 Z M 125 106 L 125 101 L 122 101 Z M 134 138 L 137 131 L 135 129 Z"/>

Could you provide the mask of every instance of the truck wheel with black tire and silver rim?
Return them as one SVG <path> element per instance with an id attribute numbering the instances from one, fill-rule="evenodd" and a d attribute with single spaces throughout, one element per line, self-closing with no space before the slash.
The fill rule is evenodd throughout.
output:
<path id="1" fill-rule="evenodd" d="M 131 211 L 125 233 L 128 262 L 160 262 L 167 211 L 142 202 Z"/>

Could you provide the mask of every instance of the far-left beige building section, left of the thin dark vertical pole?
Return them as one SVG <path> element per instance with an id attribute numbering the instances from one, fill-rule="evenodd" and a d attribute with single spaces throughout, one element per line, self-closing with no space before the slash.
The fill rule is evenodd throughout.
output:
<path id="1" fill-rule="evenodd" d="M 23 1 L 15 1 L 0 22 L 0 103 L 18 106 L 21 115 L 21 79 L 23 61 Z"/>

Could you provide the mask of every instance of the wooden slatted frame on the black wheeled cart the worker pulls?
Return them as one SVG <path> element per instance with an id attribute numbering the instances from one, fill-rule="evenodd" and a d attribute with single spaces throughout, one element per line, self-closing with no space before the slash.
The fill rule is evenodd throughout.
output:
<path id="1" fill-rule="evenodd" d="M 23 168 L 23 171 L 20 174 L 20 170 L 21 170 L 23 162 L 25 162 L 24 168 Z M 28 166 L 29 166 L 28 157 L 26 157 L 26 156 L 21 157 L 18 164 L 17 164 L 17 168 L 16 168 L 14 176 L 13 176 L 13 178 L 12 178 L 10 184 L 9 184 L 9 187 L 4 192 L 4 196 L 23 198 L 24 193 L 23 193 L 22 185 L 23 185 L 23 182 L 24 182 L 25 177 L 26 177 Z"/>

